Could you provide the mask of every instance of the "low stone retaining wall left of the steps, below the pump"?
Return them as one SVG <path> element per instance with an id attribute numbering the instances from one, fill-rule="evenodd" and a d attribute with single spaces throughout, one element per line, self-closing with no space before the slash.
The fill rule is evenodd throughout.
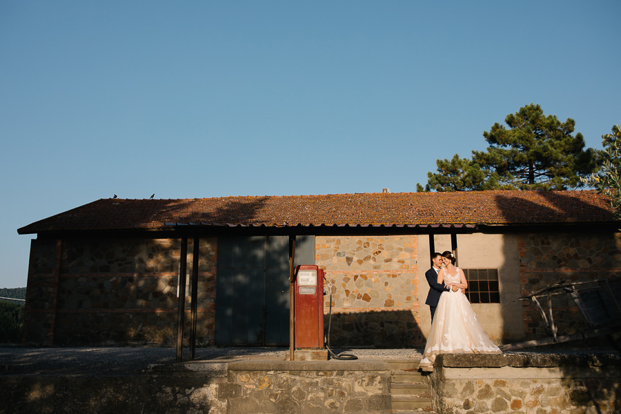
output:
<path id="1" fill-rule="evenodd" d="M 126 377 L 0 376 L 1 414 L 391 413 L 379 361 L 188 362 Z"/>

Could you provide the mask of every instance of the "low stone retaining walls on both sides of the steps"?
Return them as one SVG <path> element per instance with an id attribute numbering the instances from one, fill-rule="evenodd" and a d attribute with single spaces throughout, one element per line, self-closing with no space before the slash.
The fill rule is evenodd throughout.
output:
<path id="1" fill-rule="evenodd" d="M 128 375 L 0 368 L 0 414 L 391 413 L 391 367 L 375 359 L 212 359 Z M 621 412 L 618 354 L 440 355 L 428 380 L 437 414 Z"/>

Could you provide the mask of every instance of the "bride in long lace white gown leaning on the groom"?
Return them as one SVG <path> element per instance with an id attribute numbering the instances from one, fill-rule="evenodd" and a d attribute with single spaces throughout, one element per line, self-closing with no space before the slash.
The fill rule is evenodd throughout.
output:
<path id="1" fill-rule="evenodd" d="M 441 353 L 501 353 L 477 321 L 470 302 L 461 292 L 468 287 L 464 270 L 455 267 L 450 251 L 442 253 L 443 268 L 437 283 L 446 286 L 437 303 L 431 331 L 420 361 L 422 371 L 433 371 L 435 357 Z"/>

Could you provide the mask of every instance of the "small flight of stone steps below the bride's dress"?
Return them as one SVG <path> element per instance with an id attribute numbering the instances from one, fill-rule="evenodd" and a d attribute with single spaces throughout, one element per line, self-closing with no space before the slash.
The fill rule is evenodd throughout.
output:
<path id="1" fill-rule="evenodd" d="M 435 413 L 425 378 L 417 371 L 419 361 L 390 362 L 393 414 Z"/>

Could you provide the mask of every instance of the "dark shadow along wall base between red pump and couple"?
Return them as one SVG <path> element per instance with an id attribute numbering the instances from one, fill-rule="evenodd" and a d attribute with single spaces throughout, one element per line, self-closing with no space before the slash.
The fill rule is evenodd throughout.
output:
<path id="1" fill-rule="evenodd" d="M 411 311 L 333 311 L 324 315 L 326 338 L 330 322 L 330 346 L 422 348 L 425 343 Z"/>

